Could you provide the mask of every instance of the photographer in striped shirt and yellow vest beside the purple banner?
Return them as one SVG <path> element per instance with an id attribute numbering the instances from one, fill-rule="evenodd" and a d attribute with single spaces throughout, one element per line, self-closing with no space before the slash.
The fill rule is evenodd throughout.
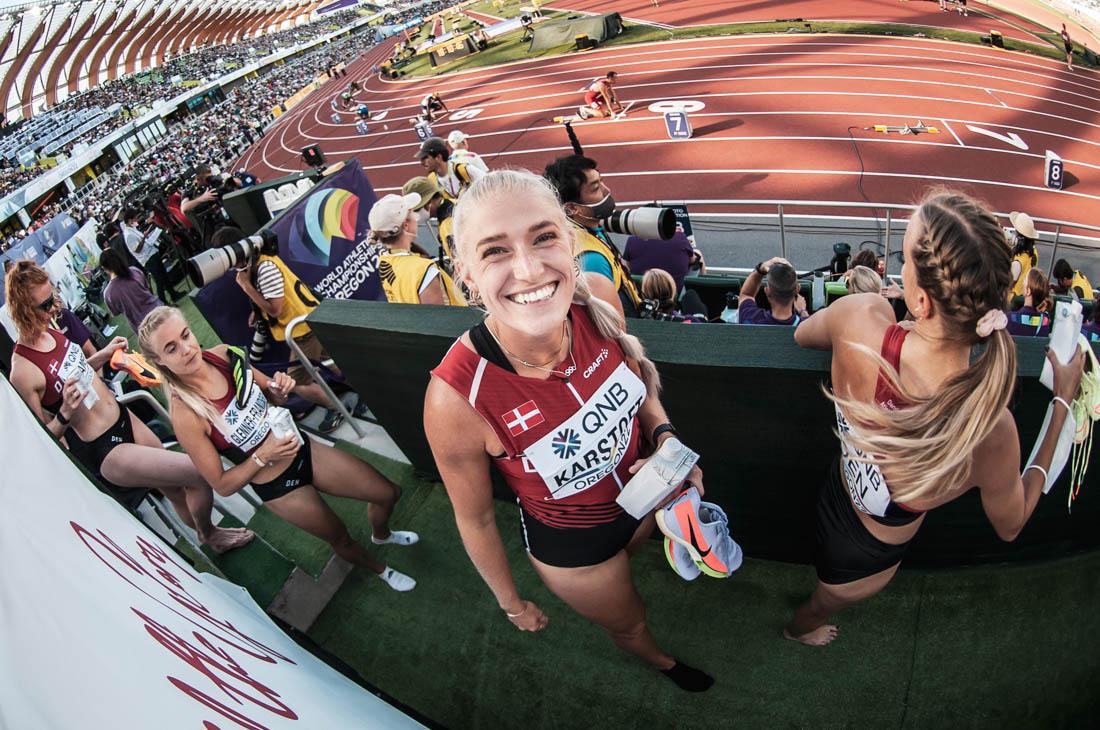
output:
<path id="1" fill-rule="evenodd" d="M 238 243 L 245 237 L 244 231 L 226 225 L 213 234 L 210 243 L 217 248 Z M 271 336 L 278 342 L 286 341 L 286 325 L 290 320 L 308 314 L 320 303 L 309 286 L 295 276 L 279 258 L 278 239 L 274 235 L 264 236 L 258 251 L 250 250 L 248 264 L 237 269 L 237 284 L 258 310 L 262 324 L 268 328 Z M 319 363 L 329 360 L 328 353 L 308 324 L 302 323 L 295 328 L 294 342 L 310 361 Z M 336 368 L 332 369 L 336 372 Z M 331 403 L 328 396 L 314 383 L 306 368 L 295 362 L 287 375 L 296 384 L 294 392 L 327 409 L 318 431 L 321 433 L 336 431 L 343 421 L 343 416 L 340 411 L 329 408 Z"/>

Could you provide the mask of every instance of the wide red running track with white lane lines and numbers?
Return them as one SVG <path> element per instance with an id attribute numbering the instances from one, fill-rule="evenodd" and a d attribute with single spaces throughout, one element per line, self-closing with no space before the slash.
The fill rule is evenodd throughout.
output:
<path id="1" fill-rule="evenodd" d="M 384 44 L 351 65 L 366 74 Z M 575 125 L 616 198 L 630 200 L 793 199 L 910 203 L 930 185 L 972 191 L 1000 211 L 1100 222 L 1100 76 L 1057 62 L 971 45 L 880 36 L 738 36 L 608 48 L 448 75 L 435 80 L 365 80 L 359 95 L 372 133 L 332 124 L 329 84 L 284 115 L 241 165 L 271 178 L 301 169 L 298 151 L 319 141 L 330 161 L 358 156 L 380 192 L 421 174 L 409 118 L 428 91 L 492 166 L 540 170 L 570 152 L 550 122 L 581 102 L 581 89 L 619 71 L 628 119 Z M 691 114 L 694 137 L 671 142 L 661 100 L 705 104 Z M 481 110 L 481 111 L 475 111 Z M 455 114 L 458 112 L 458 114 Z M 453 117 L 475 114 L 455 121 Z M 864 128 L 923 120 L 942 134 L 886 135 Z M 1005 139 L 974 132 L 980 126 Z M 864 166 L 849 139 L 856 137 Z M 1027 151 L 1016 148 L 1019 135 Z M 1054 150 L 1072 176 L 1066 190 L 1043 187 L 1043 155 Z"/>

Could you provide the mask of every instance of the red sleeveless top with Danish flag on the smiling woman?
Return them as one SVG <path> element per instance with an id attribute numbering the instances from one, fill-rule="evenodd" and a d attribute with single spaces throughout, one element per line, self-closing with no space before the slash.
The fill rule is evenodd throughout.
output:
<path id="1" fill-rule="evenodd" d="M 601 336 L 573 305 L 566 377 L 522 377 L 455 342 L 432 375 L 464 398 L 504 445 L 496 465 L 532 518 L 554 528 L 615 520 L 615 497 L 638 460 L 638 409 L 646 386 L 618 343 Z"/>

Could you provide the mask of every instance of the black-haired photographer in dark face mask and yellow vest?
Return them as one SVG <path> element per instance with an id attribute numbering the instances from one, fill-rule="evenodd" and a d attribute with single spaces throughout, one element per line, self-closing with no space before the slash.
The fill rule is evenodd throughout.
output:
<path id="1" fill-rule="evenodd" d="M 558 191 L 573 223 L 573 251 L 588 286 L 598 294 L 610 281 L 623 314 L 638 317 L 641 297 L 630 279 L 630 269 L 603 228 L 602 221 L 615 212 L 615 198 L 600 177 L 596 161 L 564 155 L 547 165 L 543 176 Z"/>

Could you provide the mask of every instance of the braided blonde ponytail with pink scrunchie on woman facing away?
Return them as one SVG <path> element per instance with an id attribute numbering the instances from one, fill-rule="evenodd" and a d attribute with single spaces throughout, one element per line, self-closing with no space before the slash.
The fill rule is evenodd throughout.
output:
<path id="1" fill-rule="evenodd" d="M 877 352 L 856 345 L 912 407 L 891 411 L 829 397 L 849 421 L 859 423 L 850 440 L 889 473 L 891 495 L 900 501 L 935 498 L 959 486 L 975 449 L 1008 406 L 1016 378 L 1016 349 L 1008 330 L 985 338 L 978 333 L 978 321 L 991 309 L 1003 308 L 1013 284 L 1009 246 L 997 219 L 966 195 L 936 189 L 910 225 L 919 226 L 919 235 L 908 264 L 932 298 L 934 316 L 947 338 L 983 343 L 985 351 L 937 392 L 917 396 L 901 385 L 898 372 Z"/>

